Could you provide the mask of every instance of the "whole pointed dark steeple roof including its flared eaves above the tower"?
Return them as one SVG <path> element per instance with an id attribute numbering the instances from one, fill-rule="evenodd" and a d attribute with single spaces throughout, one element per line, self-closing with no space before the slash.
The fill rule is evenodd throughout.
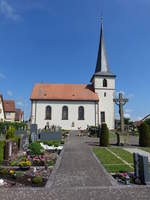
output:
<path id="1" fill-rule="evenodd" d="M 95 69 L 95 73 L 93 77 L 94 76 L 116 77 L 113 73 L 110 72 L 109 64 L 107 60 L 105 43 L 104 43 L 103 17 L 101 17 L 100 43 L 99 43 L 99 49 L 98 49 L 96 69 Z"/>

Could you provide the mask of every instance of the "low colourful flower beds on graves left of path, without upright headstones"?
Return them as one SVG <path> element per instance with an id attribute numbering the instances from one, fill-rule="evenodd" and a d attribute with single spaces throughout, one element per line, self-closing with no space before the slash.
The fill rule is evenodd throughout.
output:
<path id="1" fill-rule="evenodd" d="M 5 187 L 45 186 L 57 161 L 59 144 L 56 141 L 31 143 L 27 152 L 19 152 L 15 159 L 10 159 L 7 167 L 1 166 L 0 179 L 4 180 Z M 4 146 L 4 142 L 0 145 Z M 52 149 L 47 149 L 45 145 Z"/>

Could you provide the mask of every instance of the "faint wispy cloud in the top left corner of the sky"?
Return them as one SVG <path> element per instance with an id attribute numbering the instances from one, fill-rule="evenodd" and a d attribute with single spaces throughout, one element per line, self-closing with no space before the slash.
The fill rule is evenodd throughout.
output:
<path id="1" fill-rule="evenodd" d="M 16 10 L 10 5 L 6 0 L 0 0 L 0 14 L 5 18 L 18 21 L 21 19 L 21 16 L 16 13 Z"/>

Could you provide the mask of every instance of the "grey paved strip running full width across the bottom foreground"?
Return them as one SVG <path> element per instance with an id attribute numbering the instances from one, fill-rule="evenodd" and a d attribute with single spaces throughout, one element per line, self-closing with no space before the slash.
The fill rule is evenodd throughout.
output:
<path id="1" fill-rule="evenodd" d="M 1 200 L 149 200 L 150 187 L 81 187 L 0 189 Z"/>

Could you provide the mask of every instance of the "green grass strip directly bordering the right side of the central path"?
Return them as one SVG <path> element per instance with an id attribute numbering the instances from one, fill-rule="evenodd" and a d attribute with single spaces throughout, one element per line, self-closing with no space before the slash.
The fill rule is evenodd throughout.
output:
<path id="1" fill-rule="evenodd" d="M 93 152 L 99 158 L 101 163 L 104 165 L 105 169 L 110 173 L 120 172 L 120 171 L 127 171 L 127 172 L 133 171 L 131 167 L 129 167 L 124 162 L 122 162 L 122 160 L 120 160 L 115 155 L 110 153 L 106 148 L 94 147 Z"/>

